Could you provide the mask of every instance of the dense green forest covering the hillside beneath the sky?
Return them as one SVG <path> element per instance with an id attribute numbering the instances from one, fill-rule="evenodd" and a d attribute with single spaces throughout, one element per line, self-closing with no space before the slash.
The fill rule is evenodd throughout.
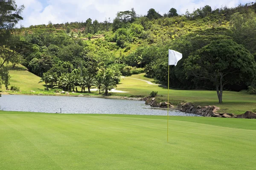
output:
<path id="1" fill-rule="evenodd" d="M 241 91 L 256 94 L 256 3 L 236 8 L 210 6 L 163 16 L 153 8 L 137 15 L 119 11 L 113 20 L 11 29 L 10 59 L 42 77 L 46 88 L 77 91 L 78 86 L 108 89 L 121 75 L 146 73 L 168 84 L 168 49 L 183 58 L 170 66 L 170 87 Z M 4 79 L 2 79 L 4 83 Z M 49 87 L 48 87 L 48 86 Z M 7 85 L 8 86 L 8 85 Z M 222 94 L 221 94 L 222 95 Z"/>

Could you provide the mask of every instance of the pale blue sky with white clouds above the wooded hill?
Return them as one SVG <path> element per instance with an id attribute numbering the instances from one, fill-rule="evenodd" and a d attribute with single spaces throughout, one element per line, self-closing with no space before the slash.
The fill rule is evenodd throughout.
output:
<path id="1" fill-rule="evenodd" d="M 214 8 L 255 2 L 254 0 L 16 0 L 17 6 L 24 5 L 23 20 L 17 24 L 31 25 L 82 22 L 88 18 L 100 22 L 110 18 L 111 22 L 118 11 L 134 8 L 137 14 L 145 15 L 148 9 L 154 8 L 160 14 L 168 13 L 170 8 L 177 9 L 178 14 L 192 12 L 197 8 L 209 5 Z"/>

